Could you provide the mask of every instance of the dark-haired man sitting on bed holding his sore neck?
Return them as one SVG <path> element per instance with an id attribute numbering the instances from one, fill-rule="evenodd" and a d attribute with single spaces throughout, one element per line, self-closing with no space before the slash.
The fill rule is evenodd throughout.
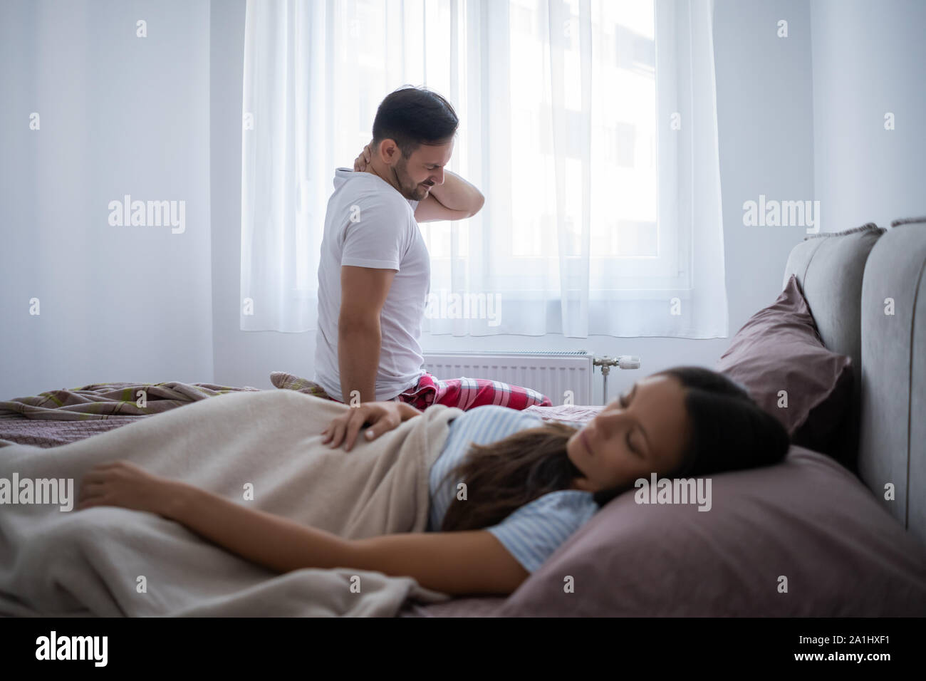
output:
<path id="1" fill-rule="evenodd" d="M 387 95 L 373 139 L 338 168 L 319 259 L 315 382 L 348 404 L 394 400 L 425 409 L 549 406 L 539 393 L 491 380 L 439 381 L 422 369 L 421 320 L 431 257 L 418 222 L 465 220 L 485 200 L 444 166 L 459 120 L 444 97 L 404 87 Z"/>

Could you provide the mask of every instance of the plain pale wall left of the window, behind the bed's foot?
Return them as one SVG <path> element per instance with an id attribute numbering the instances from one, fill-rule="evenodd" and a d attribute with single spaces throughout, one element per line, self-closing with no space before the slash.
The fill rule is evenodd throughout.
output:
<path id="1" fill-rule="evenodd" d="M 0 399 L 211 380 L 208 29 L 207 0 L 0 3 Z M 124 195 L 176 227 L 110 224 Z"/>

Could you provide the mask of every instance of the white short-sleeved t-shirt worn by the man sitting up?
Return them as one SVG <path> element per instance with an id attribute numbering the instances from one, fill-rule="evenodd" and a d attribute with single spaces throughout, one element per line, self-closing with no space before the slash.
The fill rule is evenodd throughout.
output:
<path id="1" fill-rule="evenodd" d="M 380 313 L 382 346 L 376 399 L 392 399 L 424 372 L 419 337 L 431 292 L 431 256 L 415 221 L 418 201 L 372 172 L 334 171 L 319 259 L 315 382 L 342 400 L 338 365 L 341 267 L 396 270 Z M 349 398 L 349 397 L 348 397 Z"/>

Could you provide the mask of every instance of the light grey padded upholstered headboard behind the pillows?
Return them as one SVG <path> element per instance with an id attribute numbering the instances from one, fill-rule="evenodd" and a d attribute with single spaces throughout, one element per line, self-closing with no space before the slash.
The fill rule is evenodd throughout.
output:
<path id="1" fill-rule="evenodd" d="M 926 543 L 926 218 L 808 236 L 795 274 L 820 332 L 852 358 L 842 449 L 879 503 Z M 893 485 L 894 499 L 885 498 Z"/>

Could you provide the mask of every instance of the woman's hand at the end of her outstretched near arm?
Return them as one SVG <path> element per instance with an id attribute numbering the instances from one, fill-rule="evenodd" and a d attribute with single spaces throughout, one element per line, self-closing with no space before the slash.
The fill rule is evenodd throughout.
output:
<path id="1" fill-rule="evenodd" d="M 101 463 L 83 476 L 77 510 L 120 506 L 164 515 L 173 498 L 173 485 L 128 461 Z"/>

